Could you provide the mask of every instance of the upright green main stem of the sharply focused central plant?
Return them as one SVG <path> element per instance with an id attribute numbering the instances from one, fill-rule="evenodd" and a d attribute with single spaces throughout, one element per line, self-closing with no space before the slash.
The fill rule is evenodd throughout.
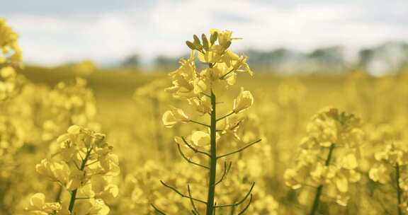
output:
<path id="1" fill-rule="evenodd" d="M 210 124 L 210 181 L 208 183 L 208 198 L 207 198 L 207 215 L 212 215 L 214 211 L 214 197 L 215 197 L 215 176 L 217 172 L 217 116 L 215 114 L 215 94 L 211 92 L 211 124 Z"/>

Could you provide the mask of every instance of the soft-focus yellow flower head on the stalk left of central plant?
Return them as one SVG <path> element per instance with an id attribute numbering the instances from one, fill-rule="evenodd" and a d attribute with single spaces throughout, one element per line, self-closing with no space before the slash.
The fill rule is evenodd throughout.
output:
<path id="1" fill-rule="evenodd" d="M 60 151 L 53 159 L 35 166 L 40 175 L 64 187 L 70 195 L 60 202 L 45 203 L 44 194 L 34 194 L 28 214 L 108 214 L 106 202 L 118 195 L 113 176 L 118 175 L 118 157 L 105 135 L 74 125 L 57 139 Z"/>

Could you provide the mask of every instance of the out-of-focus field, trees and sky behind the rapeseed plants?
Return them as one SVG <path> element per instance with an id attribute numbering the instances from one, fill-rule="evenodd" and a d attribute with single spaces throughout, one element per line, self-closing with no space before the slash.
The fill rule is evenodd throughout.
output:
<path id="1" fill-rule="evenodd" d="M 0 112 L 0 137 L 8 128 L 18 137 L 7 159 L 0 156 L 0 214 L 18 214 L 34 192 L 56 196 L 60 187 L 44 182 L 34 164 L 52 155 L 71 124 L 107 134 L 119 156 L 120 195 L 108 202 L 111 214 L 153 214 L 152 202 L 171 214 L 190 211 L 159 179 L 203 187 L 205 176 L 183 163 L 174 144 L 174 136 L 198 127 L 164 128 L 170 105 L 191 109 L 164 88 L 171 86 L 166 74 L 188 55 L 186 40 L 211 28 L 242 37 L 231 49 L 249 56 L 255 75 L 239 74 L 222 107 L 232 106 L 239 87 L 251 91 L 251 129 L 242 132 L 262 138 L 234 159 L 234 177 L 222 188 L 231 194 L 222 201 L 240 198 L 254 180 L 249 214 L 305 214 L 314 189 L 290 190 L 283 175 L 310 117 L 334 106 L 362 119 L 362 178 L 347 207 L 326 198 L 321 214 L 397 214 L 392 185 L 379 186 L 368 171 L 384 143 L 408 141 L 407 14 L 407 0 L 1 2 L 0 17 L 19 35 L 24 66 L 6 80 L 16 93 Z"/>

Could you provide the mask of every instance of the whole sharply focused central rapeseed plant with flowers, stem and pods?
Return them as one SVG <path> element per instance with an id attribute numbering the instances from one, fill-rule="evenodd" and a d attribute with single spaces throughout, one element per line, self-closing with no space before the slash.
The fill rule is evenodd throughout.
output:
<path id="1" fill-rule="evenodd" d="M 239 56 L 229 50 L 232 40 L 237 39 L 232 37 L 231 31 L 211 30 L 209 40 L 204 34 L 201 36 L 201 40 L 196 35 L 194 35 L 193 39 L 193 42 L 186 42 L 186 45 L 191 49 L 189 59 L 181 59 L 180 68 L 171 72 L 170 76 L 173 79 L 173 86 L 166 88 L 166 91 L 173 93 L 175 98 L 187 100 L 199 115 L 209 115 L 210 117 L 207 122 L 200 122 L 199 120 L 193 120 L 183 110 L 171 107 L 171 110 L 164 113 L 163 122 L 166 127 L 174 127 L 174 125 L 179 123 L 191 123 L 206 129 L 206 131 L 193 132 L 190 137 L 176 136 L 175 141 L 179 153 L 188 163 L 208 171 L 207 199 L 202 200 L 192 197 L 190 185 L 187 185 L 188 194 L 183 194 L 176 187 L 167 185 L 165 182 L 162 182 L 162 184 L 174 190 L 181 197 L 189 199 L 193 214 L 200 214 L 199 207 L 196 204 L 204 204 L 205 214 L 212 215 L 215 214 L 217 209 L 227 207 L 235 209 L 240 204 L 248 202 L 242 211 L 240 211 L 243 213 L 251 203 L 251 192 L 254 183 L 244 197 L 237 202 L 232 204 L 219 204 L 219 202 L 215 202 L 216 187 L 225 179 L 232 163 L 224 161 L 222 175 L 217 175 L 217 164 L 227 156 L 240 153 L 249 146 L 261 141 L 256 139 L 250 143 L 244 143 L 237 135 L 237 129 L 240 126 L 240 122 L 242 122 L 242 119 L 239 119 L 237 115 L 250 108 L 254 103 L 254 98 L 249 91 L 244 91 L 242 88 L 234 100 L 232 110 L 224 115 L 219 115 L 217 105 L 222 103 L 220 100 L 222 95 L 235 84 L 238 73 L 243 72 L 251 76 L 253 73 L 249 69 L 248 64 L 246 64 L 247 57 L 245 55 Z M 196 52 L 198 52 L 198 60 L 207 65 L 207 68 L 201 71 L 196 70 Z M 220 155 L 217 152 L 217 144 L 220 144 L 220 142 L 225 142 L 225 144 L 236 143 L 242 145 L 242 148 Z M 188 158 L 182 151 L 181 145 L 207 158 L 208 163 L 200 163 Z M 201 146 L 209 146 L 209 150 L 201 150 Z M 248 198 L 249 200 L 246 201 Z M 164 214 L 156 206 L 153 205 L 153 207 L 157 212 Z"/>

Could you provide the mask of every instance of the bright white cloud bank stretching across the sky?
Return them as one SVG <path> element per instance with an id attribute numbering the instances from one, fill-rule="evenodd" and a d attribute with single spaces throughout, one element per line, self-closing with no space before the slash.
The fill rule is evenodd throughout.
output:
<path id="1" fill-rule="evenodd" d="M 208 33 L 210 28 L 234 30 L 237 36 L 244 37 L 234 46 L 236 49 L 288 46 L 309 50 L 325 45 L 358 48 L 408 37 L 407 25 L 367 20 L 368 8 L 351 3 L 283 8 L 244 0 L 160 0 L 123 11 L 81 14 L 16 14 L 8 20 L 21 33 L 26 60 L 41 64 L 83 58 L 101 62 L 132 52 L 145 59 L 157 54 L 183 54 L 185 40 L 194 33 Z"/>

